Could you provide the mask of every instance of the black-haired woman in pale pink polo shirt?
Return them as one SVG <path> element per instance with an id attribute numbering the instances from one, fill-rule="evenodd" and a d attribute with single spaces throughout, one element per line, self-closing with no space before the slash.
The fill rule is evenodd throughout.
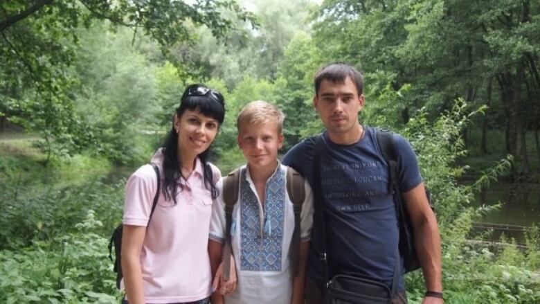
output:
<path id="1" fill-rule="evenodd" d="M 208 303 L 208 227 L 219 169 L 208 163 L 224 120 L 224 98 L 202 85 L 183 92 L 172 129 L 150 165 L 127 181 L 123 217 L 123 286 L 129 304 Z M 152 220 L 152 202 L 159 191 Z M 126 302 L 125 302 L 126 303 Z"/>

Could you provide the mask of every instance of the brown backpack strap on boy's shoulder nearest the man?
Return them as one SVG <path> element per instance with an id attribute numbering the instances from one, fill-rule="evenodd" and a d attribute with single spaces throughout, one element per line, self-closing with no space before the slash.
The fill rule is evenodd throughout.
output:
<path id="1" fill-rule="evenodd" d="M 290 259 L 292 276 L 298 276 L 298 261 L 300 260 L 300 213 L 305 200 L 304 177 L 291 167 L 287 167 L 287 193 L 293 203 L 294 231 L 291 243 Z"/>

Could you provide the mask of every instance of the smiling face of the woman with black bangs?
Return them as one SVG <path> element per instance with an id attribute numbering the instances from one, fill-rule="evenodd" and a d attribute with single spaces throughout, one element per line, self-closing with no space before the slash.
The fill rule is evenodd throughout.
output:
<path id="1" fill-rule="evenodd" d="M 174 129 L 177 130 L 179 149 L 182 154 L 201 154 L 206 151 L 219 129 L 219 122 L 204 116 L 197 109 L 186 109 L 182 116 L 174 116 Z"/>

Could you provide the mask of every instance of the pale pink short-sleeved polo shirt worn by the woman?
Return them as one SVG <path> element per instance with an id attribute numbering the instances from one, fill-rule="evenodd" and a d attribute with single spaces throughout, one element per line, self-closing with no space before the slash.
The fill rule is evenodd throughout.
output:
<path id="1" fill-rule="evenodd" d="M 158 150 L 152 163 L 160 168 Z M 221 177 L 211 165 L 214 182 Z M 160 193 L 141 251 L 146 303 L 192 302 L 210 296 L 212 274 L 208 258 L 208 229 L 212 196 L 204 186 L 203 166 L 197 159 L 187 181 L 177 185 L 177 204 Z M 138 168 L 125 186 L 123 224 L 147 226 L 156 193 L 156 172 L 150 165 Z M 123 288 L 123 284 L 121 286 Z M 128 299 L 129 300 L 129 299 Z"/>

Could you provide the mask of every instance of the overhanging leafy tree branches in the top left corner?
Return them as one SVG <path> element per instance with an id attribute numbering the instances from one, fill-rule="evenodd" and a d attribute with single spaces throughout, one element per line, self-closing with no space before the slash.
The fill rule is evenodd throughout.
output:
<path id="1" fill-rule="evenodd" d="M 0 4 L 0 116 L 39 131 L 64 146 L 88 129 L 75 113 L 71 92 L 78 75 L 69 73 L 82 26 L 107 20 L 159 43 L 163 53 L 192 39 L 206 26 L 223 37 L 235 20 L 253 19 L 233 0 L 195 1 L 11 1 Z M 136 34 L 134 34 L 135 37 Z M 4 118 L 4 119 L 5 119 Z"/>

